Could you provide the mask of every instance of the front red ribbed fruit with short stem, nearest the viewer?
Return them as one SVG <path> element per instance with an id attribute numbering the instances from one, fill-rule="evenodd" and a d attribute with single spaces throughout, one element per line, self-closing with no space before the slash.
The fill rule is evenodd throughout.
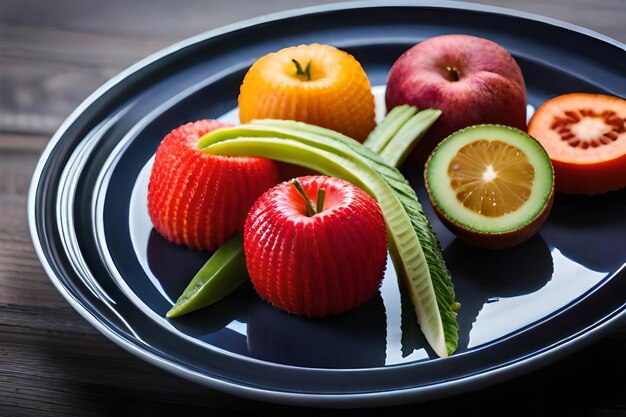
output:
<path id="1" fill-rule="evenodd" d="M 244 226 L 244 251 L 259 296 L 292 314 L 323 317 L 357 307 L 378 291 L 387 259 L 387 233 L 378 203 L 349 182 L 326 176 L 298 179 L 324 210 L 307 217 L 290 182 L 264 193 Z"/>

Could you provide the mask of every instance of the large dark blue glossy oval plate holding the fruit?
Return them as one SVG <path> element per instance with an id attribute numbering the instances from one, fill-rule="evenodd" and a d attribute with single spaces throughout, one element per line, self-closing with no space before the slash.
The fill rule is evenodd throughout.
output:
<path id="1" fill-rule="evenodd" d="M 145 209 L 154 151 L 174 127 L 231 117 L 254 60 L 300 43 L 352 53 L 373 85 L 435 35 L 494 40 L 517 59 L 537 106 L 572 91 L 626 95 L 623 44 L 562 22 L 490 7 L 356 3 L 251 20 L 186 40 L 96 91 L 52 138 L 35 172 L 29 218 L 50 279 L 98 330 L 140 358 L 251 398 L 320 406 L 420 401 L 512 378 L 605 335 L 626 317 L 626 192 L 557 195 L 527 243 L 503 252 L 454 240 L 418 191 L 444 248 L 460 346 L 436 358 L 388 268 L 379 296 L 308 320 L 261 302 L 250 285 L 176 320 L 165 312 L 207 259 L 165 242 Z M 229 113 L 231 112 L 231 113 Z M 226 115 L 226 116 L 225 116 Z"/>

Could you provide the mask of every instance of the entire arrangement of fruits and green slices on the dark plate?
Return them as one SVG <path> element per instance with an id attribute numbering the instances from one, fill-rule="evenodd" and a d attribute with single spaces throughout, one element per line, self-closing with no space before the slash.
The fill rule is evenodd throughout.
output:
<path id="1" fill-rule="evenodd" d="M 156 152 L 150 218 L 172 243 L 213 253 L 167 316 L 227 302 L 248 277 L 290 314 L 341 314 L 395 268 L 424 337 L 445 357 L 458 343 L 454 277 L 401 165 L 423 172 L 451 232 L 486 249 L 529 239 L 555 192 L 626 186 L 626 101 L 574 92 L 544 103 L 527 127 L 522 72 L 487 39 L 418 43 L 393 64 L 385 102 L 377 124 L 357 59 L 300 45 L 249 69 L 242 124 L 175 127 Z"/>

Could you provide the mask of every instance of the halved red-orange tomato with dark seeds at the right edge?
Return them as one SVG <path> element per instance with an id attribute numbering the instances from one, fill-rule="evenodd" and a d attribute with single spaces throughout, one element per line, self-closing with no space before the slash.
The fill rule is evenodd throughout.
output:
<path id="1" fill-rule="evenodd" d="M 537 109 L 528 133 L 552 160 L 557 192 L 626 187 L 626 100 L 588 93 L 555 97 Z"/>

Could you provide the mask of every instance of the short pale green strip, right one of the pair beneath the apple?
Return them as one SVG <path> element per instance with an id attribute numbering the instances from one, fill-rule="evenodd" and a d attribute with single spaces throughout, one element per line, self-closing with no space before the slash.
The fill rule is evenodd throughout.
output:
<path id="1" fill-rule="evenodd" d="M 441 116 L 441 110 L 438 109 L 420 111 L 404 123 L 383 150 L 377 153 L 389 165 L 399 167 L 415 149 L 428 129 L 439 119 L 439 116 Z"/>

